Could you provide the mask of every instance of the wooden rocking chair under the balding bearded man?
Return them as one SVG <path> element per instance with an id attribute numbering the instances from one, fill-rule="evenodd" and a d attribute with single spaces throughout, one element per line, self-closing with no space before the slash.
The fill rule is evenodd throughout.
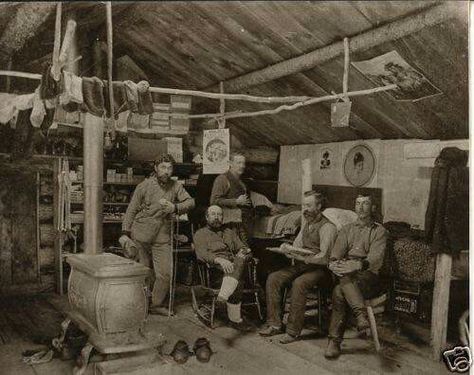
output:
<path id="1" fill-rule="evenodd" d="M 263 320 L 262 309 L 260 306 L 260 300 L 258 297 L 259 287 L 257 284 L 257 264 L 258 259 L 252 258 L 247 265 L 245 279 L 244 279 L 244 290 L 243 295 L 251 295 L 253 298 L 252 302 L 242 302 L 242 306 L 255 306 L 260 320 Z M 196 260 L 200 287 L 204 289 L 208 298 L 203 297 L 201 301 L 198 301 L 195 285 L 191 287 L 192 306 L 196 315 L 204 321 L 210 328 L 214 328 L 214 315 L 216 310 L 217 295 L 219 294 L 219 287 L 213 285 L 213 272 L 222 272 L 214 265 Z"/>

